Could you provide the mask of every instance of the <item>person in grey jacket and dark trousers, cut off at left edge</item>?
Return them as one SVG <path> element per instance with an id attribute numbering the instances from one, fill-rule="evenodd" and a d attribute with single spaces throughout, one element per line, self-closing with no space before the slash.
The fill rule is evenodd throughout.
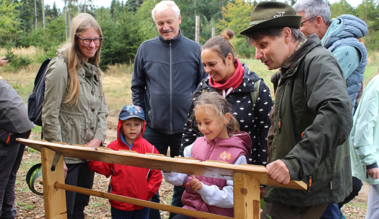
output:
<path id="1" fill-rule="evenodd" d="M 28 138 L 32 128 L 24 101 L 0 77 L 0 218 L 16 217 L 16 175 L 25 148 L 16 138 Z"/>

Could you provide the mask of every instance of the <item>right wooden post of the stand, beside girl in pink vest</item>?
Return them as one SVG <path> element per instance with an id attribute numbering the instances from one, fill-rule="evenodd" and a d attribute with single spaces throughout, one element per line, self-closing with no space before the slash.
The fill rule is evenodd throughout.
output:
<path id="1" fill-rule="evenodd" d="M 259 181 L 247 174 L 233 174 L 234 218 L 260 218 Z"/>

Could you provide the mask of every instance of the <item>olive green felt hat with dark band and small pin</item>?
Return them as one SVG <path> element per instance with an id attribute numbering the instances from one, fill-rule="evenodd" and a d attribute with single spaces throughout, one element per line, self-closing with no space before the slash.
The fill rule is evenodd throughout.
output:
<path id="1" fill-rule="evenodd" d="M 295 9 L 281 2 L 260 2 L 250 16 L 249 28 L 240 32 L 247 35 L 250 32 L 272 27 L 300 28 L 301 19 Z"/>

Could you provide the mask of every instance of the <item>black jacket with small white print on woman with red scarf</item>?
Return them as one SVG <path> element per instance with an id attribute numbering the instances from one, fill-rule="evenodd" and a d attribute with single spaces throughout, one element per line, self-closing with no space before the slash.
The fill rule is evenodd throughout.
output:
<path id="1" fill-rule="evenodd" d="M 270 90 L 260 81 L 258 100 L 255 106 L 252 105 L 251 92 L 254 91 L 254 83 L 261 79 L 254 72 L 249 71 L 248 66 L 242 63 L 245 69 L 242 84 L 231 91 L 226 99 L 229 101 L 234 117 L 240 123 L 241 131 L 249 133 L 252 140 L 252 154 L 249 163 L 266 166 L 267 161 L 267 132 L 271 126 L 268 115 L 272 108 Z M 202 136 L 198 127 L 192 121 L 194 100 L 202 94 L 202 91 L 217 91 L 209 84 L 209 76 L 203 79 L 196 88 L 191 108 L 189 109 L 187 122 L 184 125 L 183 138 L 179 155 L 183 156 L 184 148 L 194 143 L 197 137 Z M 217 91 L 218 92 L 218 91 Z M 257 92 L 257 91 L 254 91 Z M 221 94 L 220 94 L 221 95 Z"/>

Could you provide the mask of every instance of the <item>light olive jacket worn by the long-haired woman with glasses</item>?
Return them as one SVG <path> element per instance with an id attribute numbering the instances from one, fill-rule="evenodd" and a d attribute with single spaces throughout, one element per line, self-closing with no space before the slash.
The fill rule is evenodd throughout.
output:
<path id="1" fill-rule="evenodd" d="M 77 71 L 80 83 L 76 104 L 64 103 L 70 85 L 63 55 L 52 59 L 45 75 L 45 98 L 42 106 L 42 133 L 47 141 L 85 144 L 93 138 L 103 141 L 107 131 L 108 106 L 99 69 L 89 63 Z M 66 163 L 84 162 L 64 157 Z"/>

